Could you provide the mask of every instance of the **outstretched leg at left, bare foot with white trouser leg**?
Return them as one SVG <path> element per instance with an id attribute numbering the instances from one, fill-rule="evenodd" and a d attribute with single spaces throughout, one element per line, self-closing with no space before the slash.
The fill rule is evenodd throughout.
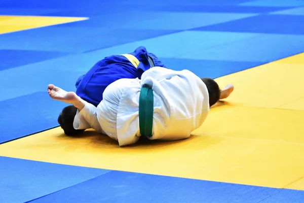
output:
<path id="1" fill-rule="evenodd" d="M 74 118 L 75 129 L 93 128 L 97 132 L 104 133 L 97 119 L 96 107 L 80 98 L 75 92 L 67 92 L 55 85 L 48 85 L 48 93 L 51 98 L 71 104 L 78 109 Z M 82 117 L 86 122 L 81 122 Z"/>

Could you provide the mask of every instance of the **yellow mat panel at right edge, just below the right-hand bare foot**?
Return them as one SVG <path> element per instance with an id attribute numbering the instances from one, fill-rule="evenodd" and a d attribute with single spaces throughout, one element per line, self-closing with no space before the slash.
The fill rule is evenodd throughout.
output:
<path id="1" fill-rule="evenodd" d="M 228 103 L 213 108 L 193 134 L 304 144 L 303 122 L 304 111 L 244 108 Z"/>

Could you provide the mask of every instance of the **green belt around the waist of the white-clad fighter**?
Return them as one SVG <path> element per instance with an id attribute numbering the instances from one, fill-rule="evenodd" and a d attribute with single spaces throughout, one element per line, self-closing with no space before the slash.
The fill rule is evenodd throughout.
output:
<path id="1" fill-rule="evenodd" d="M 150 85 L 144 84 L 139 94 L 139 130 L 141 136 L 151 137 L 154 110 L 153 90 Z"/>

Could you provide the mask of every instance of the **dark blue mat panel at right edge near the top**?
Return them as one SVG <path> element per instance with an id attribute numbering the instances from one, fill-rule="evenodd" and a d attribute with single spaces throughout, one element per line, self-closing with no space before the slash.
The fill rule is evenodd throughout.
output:
<path id="1" fill-rule="evenodd" d="M 258 15 L 196 30 L 303 35 L 303 22 L 304 16 L 299 15 Z"/>

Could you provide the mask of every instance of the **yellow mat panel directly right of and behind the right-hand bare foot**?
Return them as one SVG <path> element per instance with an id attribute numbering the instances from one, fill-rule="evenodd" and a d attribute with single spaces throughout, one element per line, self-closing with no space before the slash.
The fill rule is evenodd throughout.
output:
<path id="1" fill-rule="evenodd" d="M 301 64 L 268 63 L 216 79 L 235 84 L 230 100 L 240 106 L 277 108 L 304 97 Z"/>

